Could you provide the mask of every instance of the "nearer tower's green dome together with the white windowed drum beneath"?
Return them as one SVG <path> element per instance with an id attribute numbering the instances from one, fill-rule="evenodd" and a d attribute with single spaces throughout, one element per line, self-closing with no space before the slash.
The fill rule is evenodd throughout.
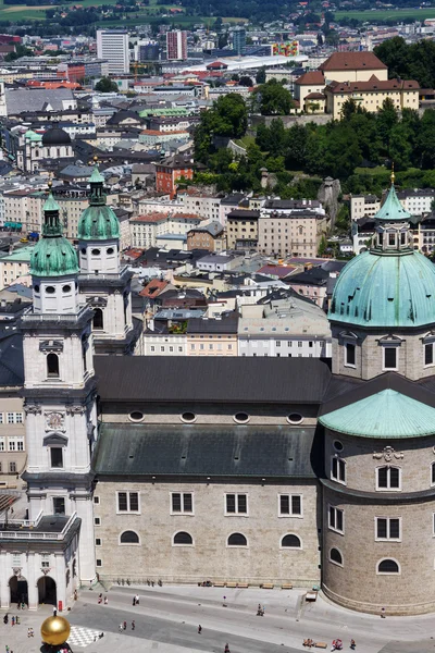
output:
<path id="1" fill-rule="evenodd" d="M 42 237 L 30 256 L 35 312 L 75 312 L 77 252 L 62 235 L 59 205 L 50 193 L 44 205 Z"/>

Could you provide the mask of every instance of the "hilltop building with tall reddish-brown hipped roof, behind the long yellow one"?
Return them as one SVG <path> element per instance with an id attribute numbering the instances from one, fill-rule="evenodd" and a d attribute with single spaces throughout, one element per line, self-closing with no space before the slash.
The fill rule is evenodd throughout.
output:
<path id="1" fill-rule="evenodd" d="M 333 52 L 320 66 L 325 83 L 388 81 L 388 67 L 373 52 Z"/>

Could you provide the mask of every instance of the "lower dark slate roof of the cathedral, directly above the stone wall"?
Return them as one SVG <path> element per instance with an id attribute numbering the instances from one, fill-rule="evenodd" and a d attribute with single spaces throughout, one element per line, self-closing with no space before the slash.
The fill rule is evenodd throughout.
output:
<path id="1" fill-rule="evenodd" d="M 313 478 L 313 428 L 103 423 L 100 476 Z"/>

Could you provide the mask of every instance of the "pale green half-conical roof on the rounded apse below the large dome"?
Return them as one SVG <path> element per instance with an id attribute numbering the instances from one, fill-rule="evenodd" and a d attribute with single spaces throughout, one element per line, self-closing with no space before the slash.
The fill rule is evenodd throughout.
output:
<path id="1" fill-rule="evenodd" d="M 419 438 L 433 434 L 435 408 L 389 387 L 322 415 L 319 421 L 360 438 Z"/>

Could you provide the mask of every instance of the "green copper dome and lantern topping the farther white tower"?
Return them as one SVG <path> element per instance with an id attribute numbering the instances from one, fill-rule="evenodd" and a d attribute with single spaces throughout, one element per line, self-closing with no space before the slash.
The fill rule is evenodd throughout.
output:
<path id="1" fill-rule="evenodd" d="M 111 241 L 120 237 L 120 223 L 111 207 L 105 204 L 104 177 L 97 165 L 89 180 L 89 206 L 82 213 L 78 223 L 79 241 Z"/>

